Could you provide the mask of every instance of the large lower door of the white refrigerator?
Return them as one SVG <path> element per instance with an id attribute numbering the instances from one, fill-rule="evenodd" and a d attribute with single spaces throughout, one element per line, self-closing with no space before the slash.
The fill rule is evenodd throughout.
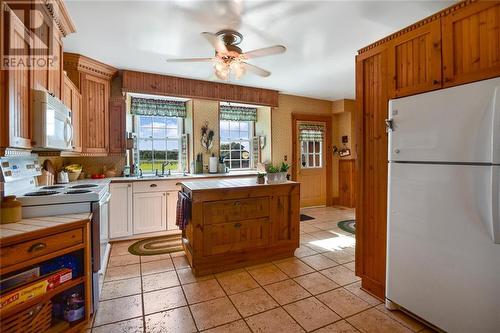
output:
<path id="1" fill-rule="evenodd" d="M 447 332 L 500 332 L 499 176 L 492 166 L 389 164 L 388 299 Z"/>

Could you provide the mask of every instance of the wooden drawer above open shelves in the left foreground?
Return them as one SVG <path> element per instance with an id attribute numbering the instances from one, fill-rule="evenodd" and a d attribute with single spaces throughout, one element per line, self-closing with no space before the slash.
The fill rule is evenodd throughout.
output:
<path id="1" fill-rule="evenodd" d="M 2 268 L 83 243 L 83 229 L 61 232 L 52 236 L 2 248 Z"/>

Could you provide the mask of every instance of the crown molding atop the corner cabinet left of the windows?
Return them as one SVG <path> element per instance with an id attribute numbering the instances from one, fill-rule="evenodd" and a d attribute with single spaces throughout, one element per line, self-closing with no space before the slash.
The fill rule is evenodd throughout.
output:
<path id="1" fill-rule="evenodd" d="M 112 66 L 77 53 L 64 52 L 63 64 L 65 70 L 77 70 L 106 80 L 111 80 L 118 73 Z"/>

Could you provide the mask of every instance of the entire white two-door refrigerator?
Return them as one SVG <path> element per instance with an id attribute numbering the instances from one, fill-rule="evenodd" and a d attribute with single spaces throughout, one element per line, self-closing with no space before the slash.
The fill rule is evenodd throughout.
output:
<path id="1" fill-rule="evenodd" d="M 500 78 L 389 102 L 386 306 L 500 332 Z"/>

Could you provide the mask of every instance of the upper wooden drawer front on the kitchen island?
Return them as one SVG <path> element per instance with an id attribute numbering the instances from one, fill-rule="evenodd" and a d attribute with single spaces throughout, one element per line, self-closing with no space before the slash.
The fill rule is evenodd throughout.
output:
<path id="1" fill-rule="evenodd" d="M 224 223 L 269 216 L 269 197 L 203 203 L 205 224 Z"/>

